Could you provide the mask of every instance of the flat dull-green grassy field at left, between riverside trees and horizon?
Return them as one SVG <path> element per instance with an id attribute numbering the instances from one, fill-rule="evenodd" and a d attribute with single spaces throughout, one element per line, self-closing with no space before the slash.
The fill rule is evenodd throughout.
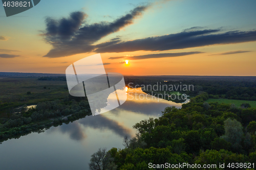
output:
<path id="1" fill-rule="evenodd" d="M 27 94 L 29 91 L 31 94 Z M 37 78 L 25 77 L 0 78 L 0 115 L 10 107 L 63 99 L 68 94 L 66 81 L 40 81 Z"/>

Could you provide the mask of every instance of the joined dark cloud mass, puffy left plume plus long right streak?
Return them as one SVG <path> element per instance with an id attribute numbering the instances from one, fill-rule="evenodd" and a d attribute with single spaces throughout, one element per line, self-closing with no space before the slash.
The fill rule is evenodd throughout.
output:
<path id="1" fill-rule="evenodd" d="M 44 57 L 65 57 L 80 53 L 122 53 L 168 51 L 215 44 L 256 41 L 256 31 L 228 31 L 192 27 L 180 33 L 122 41 L 120 37 L 96 44 L 101 38 L 131 25 L 150 5 L 139 6 L 112 22 L 87 23 L 87 14 L 73 12 L 68 18 L 46 18 L 44 39 L 52 49 Z M 224 54 L 225 55 L 225 54 Z M 150 56 L 144 56 L 150 57 Z M 121 58 L 121 57 L 120 57 Z M 138 56 L 137 56 L 138 58 Z M 142 57 L 140 57 L 142 58 Z M 110 58 L 112 59 L 112 58 Z M 134 58 L 136 59 L 136 57 Z"/>

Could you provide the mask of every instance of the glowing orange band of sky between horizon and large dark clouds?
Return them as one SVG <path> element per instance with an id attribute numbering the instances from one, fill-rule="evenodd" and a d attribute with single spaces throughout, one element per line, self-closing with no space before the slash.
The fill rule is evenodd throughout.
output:
<path id="1" fill-rule="evenodd" d="M 39 41 L 40 42 L 40 41 Z M 1 43 L 1 41 L 0 41 Z M 40 43 L 39 43 L 40 44 Z M 108 59 L 118 56 L 138 56 L 151 54 L 145 51 L 132 53 L 103 53 L 101 58 L 103 63 L 111 63 L 105 65 L 106 72 L 120 72 L 123 75 L 211 75 L 211 76 L 256 76 L 256 52 L 252 49 L 256 42 L 246 42 L 227 45 L 212 45 L 206 47 L 197 47 L 194 49 L 168 51 L 170 53 L 202 51 L 205 53 L 169 57 L 155 58 L 143 60 L 130 60 L 130 64 L 120 63 L 124 59 Z M 43 72 L 43 73 L 61 73 L 65 74 L 67 66 L 84 57 L 93 55 L 94 53 L 77 54 L 69 57 L 47 58 L 41 57 L 39 54 L 45 54 L 49 50 L 49 46 L 44 43 L 41 47 L 31 44 L 30 47 L 38 48 L 38 51 L 24 50 L 21 57 L 0 58 L 2 72 Z M 20 48 L 23 48 L 20 47 Z M 25 49 L 25 48 L 23 48 Z M 249 53 L 218 55 L 238 49 L 252 51 Z M 16 48 L 19 50 L 19 48 Z M 166 53 L 159 52 L 159 53 Z M 12 52 L 11 54 L 20 54 Z M 217 55 L 212 55 L 217 54 Z"/>

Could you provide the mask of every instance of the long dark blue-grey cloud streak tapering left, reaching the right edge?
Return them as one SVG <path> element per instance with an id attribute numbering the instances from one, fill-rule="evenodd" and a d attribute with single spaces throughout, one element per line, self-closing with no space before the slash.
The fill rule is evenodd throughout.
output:
<path id="1" fill-rule="evenodd" d="M 177 34 L 147 37 L 101 47 L 95 50 L 95 52 L 167 51 L 214 44 L 256 41 L 256 31 L 229 31 L 216 34 L 219 31 L 220 30 L 183 31 Z"/>

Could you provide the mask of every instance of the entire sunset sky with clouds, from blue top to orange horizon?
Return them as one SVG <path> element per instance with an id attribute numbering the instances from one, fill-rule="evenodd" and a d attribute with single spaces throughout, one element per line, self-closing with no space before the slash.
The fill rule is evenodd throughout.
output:
<path id="1" fill-rule="evenodd" d="M 100 53 L 106 72 L 123 75 L 256 76 L 255 7 L 254 0 L 42 0 L 6 17 L 1 4 L 0 72 L 65 74 Z"/>

